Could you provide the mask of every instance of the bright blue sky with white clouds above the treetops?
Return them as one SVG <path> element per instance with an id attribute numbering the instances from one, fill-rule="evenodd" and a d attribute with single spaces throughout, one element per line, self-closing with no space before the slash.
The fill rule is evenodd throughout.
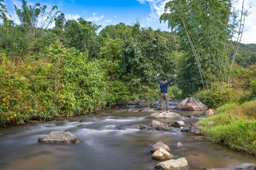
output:
<path id="1" fill-rule="evenodd" d="M 38 0 L 27 0 L 28 4 L 35 4 Z M 97 25 L 115 25 L 123 22 L 131 25 L 139 19 L 142 27 L 152 27 L 168 31 L 167 24 L 160 24 L 159 16 L 163 13 L 164 4 L 170 0 L 40 0 L 41 4 L 47 6 L 58 6 L 58 10 L 65 13 L 67 19 L 83 17 Z M 234 7 L 241 8 L 242 0 L 239 0 Z M 245 31 L 242 38 L 243 43 L 256 43 L 256 1 L 245 0 L 244 6 L 251 14 L 246 18 Z M 13 4 L 20 6 L 20 0 L 5 0 L 7 9 L 12 15 L 12 20 L 19 24 L 17 15 L 13 10 Z"/>

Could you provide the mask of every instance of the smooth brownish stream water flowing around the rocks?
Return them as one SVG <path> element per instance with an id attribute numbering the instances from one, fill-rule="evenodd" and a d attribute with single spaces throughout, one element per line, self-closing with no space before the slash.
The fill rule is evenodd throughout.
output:
<path id="1" fill-rule="evenodd" d="M 234 169 L 238 164 L 256 164 L 252 155 L 234 152 L 208 141 L 193 141 L 192 134 L 180 132 L 179 128 L 172 127 L 165 132 L 141 131 L 138 125 L 150 124 L 152 119 L 146 117 L 152 111 L 107 110 L 64 121 L 0 129 L 0 169 L 154 169 L 158 161 L 151 158 L 150 150 L 157 141 L 168 145 L 175 159 L 185 157 L 189 169 Z M 79 122 L 83 119 L 84 122 Z M 179 118 L 187 125 L 199 119 Z M 56 145 L 37 142 L 51 131 L 70 131 L 84 143 Z M 183 143 L 184 147 L 175 148 L 177 142 Z"/>

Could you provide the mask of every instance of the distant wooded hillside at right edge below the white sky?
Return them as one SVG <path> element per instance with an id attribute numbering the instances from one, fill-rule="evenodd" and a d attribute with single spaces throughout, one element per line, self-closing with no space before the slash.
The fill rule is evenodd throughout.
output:
<path id="1" fill-rule="evenodd" d="M 236 62 L 243 67 L 256 64 L 256 44 L 240 44 Z"/>

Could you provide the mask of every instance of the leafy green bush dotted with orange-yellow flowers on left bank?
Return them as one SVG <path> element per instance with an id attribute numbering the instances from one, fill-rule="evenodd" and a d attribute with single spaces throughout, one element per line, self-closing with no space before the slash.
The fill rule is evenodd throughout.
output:
<path id="1" fill-rule="evenodd" d="M 1 55 L 0 127 L 86 114 L 125 99 L 124 83 L 108 85 L 109 74 L 98 61 L 89 62 L 86 52 L 56 41 L 45 53 L 20 62 Z"/>

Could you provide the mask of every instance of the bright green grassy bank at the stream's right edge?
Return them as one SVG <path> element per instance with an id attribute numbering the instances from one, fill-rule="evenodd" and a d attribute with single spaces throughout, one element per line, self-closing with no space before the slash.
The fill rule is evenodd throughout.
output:
<path id="1" fill-rule="evenodd" d="M 220 106 L 214 116 L 197 124 L 202 125 L 202 133 L 213 143 L 256 155 L 255 118 L 256 101 L 248 101 Z"/>

